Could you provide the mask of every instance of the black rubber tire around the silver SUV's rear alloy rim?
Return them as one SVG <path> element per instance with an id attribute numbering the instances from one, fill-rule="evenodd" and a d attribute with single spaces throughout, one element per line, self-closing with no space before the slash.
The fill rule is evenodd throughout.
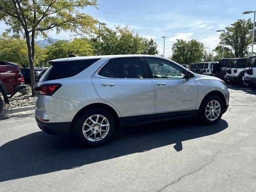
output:
<path id="1" fill-rule="evenodd" d="M 90 140 L 86 139 L 86 137 L 84 136 L 84 134 L 82 132 L 83 124 L 87 120 L 87 118 L 89 118 L 92 115 L 96 115 L 96 114 L 102 115 L 105 118 L 107 118 L 107 120 L 109 122 L 109 131 L 108 131 L 107 135 L 102 140 L 90 141 Z M 114 119 L 113 115 L 108 110 L 105 110 L 103 108 L 92 108 L 90 110 L 86 110 L 86 111 L 82 112 L 75 119 L 73 135 L 78 140 L 78 142 L 80 142 L 80 143 L 82 143 L 84 145 L 87 145 L 87 146 L 100 146 L 100 145 L 102 145 L 103 143 L 105 143 L 106 141 L 109 140 L 109 138 L 111 137 L 111 135 L 113 134 L 115 129 L 116 129 L 115 119 Z"/>

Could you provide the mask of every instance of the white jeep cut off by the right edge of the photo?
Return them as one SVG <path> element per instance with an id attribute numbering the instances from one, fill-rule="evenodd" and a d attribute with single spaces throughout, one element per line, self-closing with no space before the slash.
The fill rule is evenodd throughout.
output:
<path id="1" fill-rule="evenodd" d="M 246 63 L 242 80 L 252 89 L 256 89 L 256 56 L 250 56 Z"/>

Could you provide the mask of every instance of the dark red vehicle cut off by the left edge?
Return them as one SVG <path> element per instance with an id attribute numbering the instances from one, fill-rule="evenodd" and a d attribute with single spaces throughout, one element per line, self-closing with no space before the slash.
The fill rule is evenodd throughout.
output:
<path id="1" fill-rule="evenodd" d="M 4 97 L 4 102 L 9 104 L 9 98 L 26 89 L 20 66 L 12 62 L 0 61 L 0 93 Z M 2 108 L 3 101 L 0 97 L 0 112 Z"/>

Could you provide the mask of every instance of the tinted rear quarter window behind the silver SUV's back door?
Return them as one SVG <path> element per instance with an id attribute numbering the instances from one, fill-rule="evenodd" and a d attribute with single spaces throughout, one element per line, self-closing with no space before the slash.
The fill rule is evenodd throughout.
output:
<path id="1" fill-rule="evenodd" d="M 100 58 L 53 62 L 52 65 L 46 70 L 46 72 L 44 72 L 39 82 L 75 76 L 98 60 L 100 60 Z"/>

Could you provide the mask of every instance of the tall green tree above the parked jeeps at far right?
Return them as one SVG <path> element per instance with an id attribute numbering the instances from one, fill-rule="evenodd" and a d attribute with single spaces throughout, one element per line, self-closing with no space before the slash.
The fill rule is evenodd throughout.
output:
<path id="1" fill-rule="evenodd" d="M 250 54 L 249 47 L 252 42 L 252 28 L 253 22 L 251 19 L 238 19 L 231 26 L 226 27 L 225 58 L 242 58 Z M 220 44 L 214 49 L 217 54 L 222 54 L 223 35 L 223 33 L 220 34 Z"/>

